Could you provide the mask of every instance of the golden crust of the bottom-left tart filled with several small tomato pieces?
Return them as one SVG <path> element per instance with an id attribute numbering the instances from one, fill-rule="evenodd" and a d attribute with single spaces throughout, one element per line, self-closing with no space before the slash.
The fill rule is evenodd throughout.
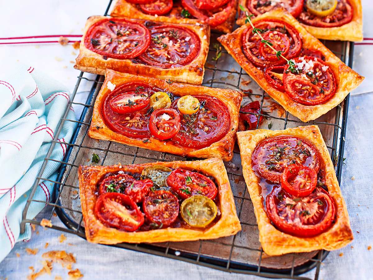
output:
<path id="1" fill-rule="evenodd" d="M 141 173 L 142 169 L 153 165 L 163 165 L 169 168 L 186 168 L 211 175 L 216 179 L 220 201 L 220 219 L 205 230 L 173 228 L 154 229 L 140 232 L 125 232 L 104 226 L 94 214 L 97 200 L 97 182 L 107 172 L 119 170 Z M 199 239 L 214 239 L 234 235 L 241 230 L 241 224 L 236 214 L 236 207 L 229 184 L 224 163 L 212 158 L 196 161 L 153 162 L 134 165 L 113 166 L 79 166 L 79 190 L 84 217 L 85 235 L 88 241 L 101 244 L 116 244 L 120 242 L 166 242 L 193 241 Z"/>

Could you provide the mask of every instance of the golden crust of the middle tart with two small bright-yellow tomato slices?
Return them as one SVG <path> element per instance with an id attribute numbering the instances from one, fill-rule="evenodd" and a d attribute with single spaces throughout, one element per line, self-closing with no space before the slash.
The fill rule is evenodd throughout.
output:
<path id="1" fill-rule="evenodd" d="M 168 92 L 175 93 L 178 96 L 184 95 L 209 95 L 216 97 L 222 101 L 229 110 L 231 123 L 228 133 L 222 139 L 212 143 L 210 146 L 202 149 L 192 149 L 182 147 L 171 141 L 160 141 L 154 137 L 150 137 L 149 141 L 143 142 L 144 139 L 134 139 L 126 137 L 120 133 L 110 130 L 105 124 L 101 115 L 101 106 L 106 96 L 110 93 L 107 88 L 107 83 L 119 86 L 128 82 L 143 82 L 151 86 L 164 89 Z M 221 157 L 223 160 L 231 160 L 233 157 L 234 143 L 236 140 L 236 132 L 238 129 L 238 111 L 241 105 L 242 92 L 230 89 L 209 88 L 205 86 L 193 86 L 179 83 L 168 84 L 165 80 L 158 80 L 148 77 L 134 76 L 131 74 L 119 73 L 110 69 L 106 70 L 104 84 L 96 98 L 93 116 L 88 136 L 94 139 L 111 140 L 123 143 L 129 146 L 155 150 L 159 152 L 173 153 L 175 155 L 189 157 Z"/>

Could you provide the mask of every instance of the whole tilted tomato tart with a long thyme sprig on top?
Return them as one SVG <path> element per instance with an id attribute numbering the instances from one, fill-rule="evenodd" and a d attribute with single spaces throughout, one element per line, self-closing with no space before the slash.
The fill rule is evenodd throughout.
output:
<path id="1" fill-rule="evenodd" d="M 300 120 L 325 114 L 363 81 L 289 13 L 272 10 L 252 22 L 264 40 L 244 25 L 218 41 L 261 88 Z"/>

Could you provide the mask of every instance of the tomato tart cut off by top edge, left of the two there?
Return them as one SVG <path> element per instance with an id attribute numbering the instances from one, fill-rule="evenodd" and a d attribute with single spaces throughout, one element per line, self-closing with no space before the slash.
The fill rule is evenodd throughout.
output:
<path id="1" fill-rule="evenodd" d="M 238 0 L 117 0 L 111 16 L 170 23 L 200 23 L 232 32 Z"/>

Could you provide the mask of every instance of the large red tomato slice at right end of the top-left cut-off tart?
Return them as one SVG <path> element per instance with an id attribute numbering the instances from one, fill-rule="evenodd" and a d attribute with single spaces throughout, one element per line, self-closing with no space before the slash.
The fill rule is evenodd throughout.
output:
<path id="1" fill-rule="evenodd" d="M 182 6 L 188 12 L 202 22 L 209 24 L 211 27 L 218 26 L 225 22 L 235 9 L 235 0 L 229 1 L 227 4 L 218 7 L 216 10 L 200 10 L 194 0 L 181 0 Z"/>

